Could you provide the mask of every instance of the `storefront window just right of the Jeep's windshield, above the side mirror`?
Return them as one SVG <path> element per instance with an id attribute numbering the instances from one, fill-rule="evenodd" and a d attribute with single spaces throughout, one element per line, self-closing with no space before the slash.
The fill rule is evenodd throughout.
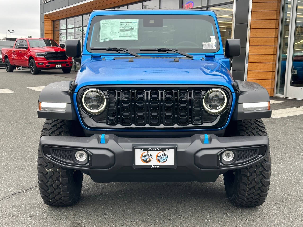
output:
<path id="1" fill-rule="evenodd" d="M 217 14 L 223 49 L 225 50 L 225 41 L 231 38 L 233 4 L 220 5 L 208 9 L 213 10 Z"/>

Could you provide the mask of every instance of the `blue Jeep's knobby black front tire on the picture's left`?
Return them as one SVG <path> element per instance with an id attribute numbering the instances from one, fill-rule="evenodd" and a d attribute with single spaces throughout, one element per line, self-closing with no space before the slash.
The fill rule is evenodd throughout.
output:
<path id="1" fill-rule="evenodd" d="M 74 121 L 46 119 L 41 136 L 72 136 Z M 41 137 L 40 136 L 40 137 Z M 83 173 L 64 169 L 45 160 L 38 149 L 38 186 L 45 204 L 70 206 L 78 201 L 82 189 Z"/>

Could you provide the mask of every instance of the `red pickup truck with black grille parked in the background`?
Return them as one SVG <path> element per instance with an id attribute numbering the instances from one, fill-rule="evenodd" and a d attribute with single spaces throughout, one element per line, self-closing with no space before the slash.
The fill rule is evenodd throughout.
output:
<path id="1" fill-rule="evenodd" d="M 28 67 L 32 74 L 45 69 L 62 69 L 64 73 L 70 73 L 73 61 L 66 57 L 64 47 L 53 39 L 21 38 L 15 41 L 13 48 L 2 48 L 2 62 L 7 72 L 22 66 Z"/>

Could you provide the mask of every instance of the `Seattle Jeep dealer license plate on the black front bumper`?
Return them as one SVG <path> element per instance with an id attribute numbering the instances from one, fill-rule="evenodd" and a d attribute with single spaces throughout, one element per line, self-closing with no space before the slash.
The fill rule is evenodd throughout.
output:
<path id="1" fill-rule="evenodd" d="M 134 147 L 133 168 L 169 169 L 176 168 L 176 147 Z"/>

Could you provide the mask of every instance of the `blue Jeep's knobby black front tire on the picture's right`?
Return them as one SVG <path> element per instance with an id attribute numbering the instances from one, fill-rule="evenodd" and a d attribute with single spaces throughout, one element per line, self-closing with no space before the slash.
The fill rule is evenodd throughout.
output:
<path id="1" fill-rule="evenodd" d="M 238 120 L 227 130 L 229 136 L 267 136 L 261 119 Z M 261 162 L 223 174 L 228 199 L 236 206 L 260 206 L 270 183 L 270 151 Z"/>

